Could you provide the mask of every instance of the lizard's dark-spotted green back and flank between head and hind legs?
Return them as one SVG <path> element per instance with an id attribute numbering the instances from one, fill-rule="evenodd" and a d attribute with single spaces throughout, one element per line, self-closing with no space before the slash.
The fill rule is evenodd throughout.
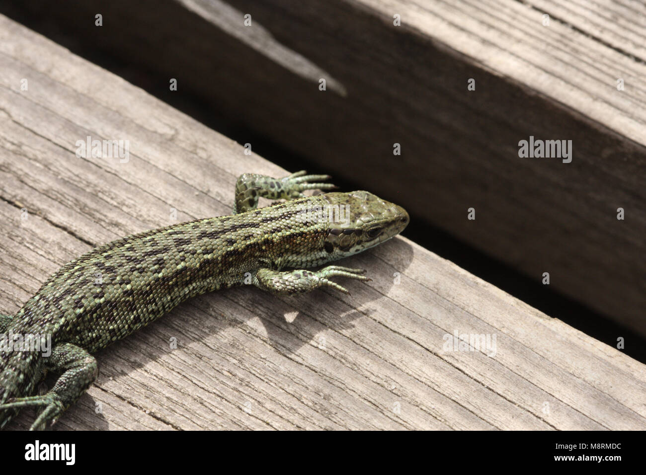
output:
<path id="1" fill-rule="evenodd" d="M 194 295 L 244 283 L 260 265 L 280 268 L 290 254 L 322 249 L 326 224 L 297 223 L 295 204 L 152 229 L 94 248 L 54 273 L 8 330 L 49 333 L 55 343 L 95 352 Z"/>

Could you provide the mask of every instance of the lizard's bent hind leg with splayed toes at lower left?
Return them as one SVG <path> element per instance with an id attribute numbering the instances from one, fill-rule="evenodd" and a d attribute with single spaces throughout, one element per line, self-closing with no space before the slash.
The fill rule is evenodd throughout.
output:
<path id="1" fill-rule="evenodd" d="M 63 372 L 56 380 L 52 390 L 43 396 L 16 397 L 7 401 L 6 404 L 0 405 L 0 410 L 44 406 L 43 412 L 34 421 L 30 430 L 45 428 L 49 421 L 56 421 L 72 403 L 87 391 L 98 375 L 94 356 L 72 343 L 57 344 L 54 346 L 52 354 L 48 358 L 43 357 L 43 359 L 45 359 L 45 366 L 49 370 Z"/>

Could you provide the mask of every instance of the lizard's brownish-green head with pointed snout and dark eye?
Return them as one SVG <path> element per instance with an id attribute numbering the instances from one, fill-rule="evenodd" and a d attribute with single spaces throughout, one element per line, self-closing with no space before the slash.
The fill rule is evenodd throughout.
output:
<path id="1" fill-rule="evenodd" d="M 408 226 L 408 213 L 401 206 L 368 191 L 326 193 L 329 231 L 324 249 L 340 259 L 377 246 L 397 236 Z"/>

